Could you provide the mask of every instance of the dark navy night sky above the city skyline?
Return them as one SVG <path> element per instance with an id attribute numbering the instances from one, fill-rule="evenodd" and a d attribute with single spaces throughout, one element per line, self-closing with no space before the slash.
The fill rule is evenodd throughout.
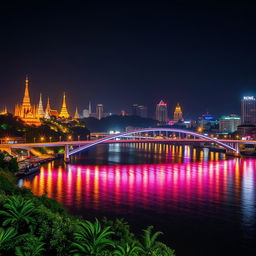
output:
<path id="1" fill-rule="evenodd" d="M 256 95 L 254 6 L 51 2 L 1 4 L 0 108 L 21 99 L 26 74 L 35 103 L 42 92 L 59 109 L 66 91 L 72 112 L 89 100 L 153 112 L 164 99 L 186 117 L 221 115 Z"/>

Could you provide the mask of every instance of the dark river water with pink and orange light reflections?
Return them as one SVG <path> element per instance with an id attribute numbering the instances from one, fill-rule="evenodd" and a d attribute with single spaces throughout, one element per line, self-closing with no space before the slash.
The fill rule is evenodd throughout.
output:
<path id="1" fill-rule="evenodd" d="M 177 256 L 256 255 L 256 159 L 190 146 L 99 145 L 19 181 L 71 214 L 154 225 Z"/>

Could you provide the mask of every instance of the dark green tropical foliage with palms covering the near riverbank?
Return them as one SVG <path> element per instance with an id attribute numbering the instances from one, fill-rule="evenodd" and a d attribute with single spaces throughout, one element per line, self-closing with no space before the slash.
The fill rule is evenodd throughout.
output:
<path id="1" fill-rule="evenodd" d="M 153 227 L 136 236 L 123 219 L 101 221 L 70 216 L 44 194 L 18 188 L 0 171 L 0 255 L 5 256 L 174 256 Z"/>

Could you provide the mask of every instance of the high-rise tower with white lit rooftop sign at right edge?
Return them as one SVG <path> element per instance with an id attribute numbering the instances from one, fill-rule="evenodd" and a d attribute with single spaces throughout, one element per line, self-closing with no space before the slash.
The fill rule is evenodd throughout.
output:
<path id="1" fill-rule="evenodd" d="M 245 96 L 241 101 L 242 124 L 256 124 L 256 99 L 254 96 Z"/>

